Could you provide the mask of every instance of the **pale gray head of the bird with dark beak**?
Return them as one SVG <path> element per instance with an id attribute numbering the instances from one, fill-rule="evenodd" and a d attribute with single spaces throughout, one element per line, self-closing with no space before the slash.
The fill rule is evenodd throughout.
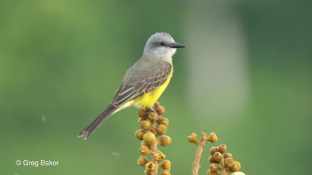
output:
<path id="1" fill-rule="evenodd" d="M 158 57 L 172 57 L 176 53 L 176 48 L 183 48 L 185 45 L 175 42 L 168 33 L 156 33 L 146 42 L 144 55 L 154 55 Z"/>

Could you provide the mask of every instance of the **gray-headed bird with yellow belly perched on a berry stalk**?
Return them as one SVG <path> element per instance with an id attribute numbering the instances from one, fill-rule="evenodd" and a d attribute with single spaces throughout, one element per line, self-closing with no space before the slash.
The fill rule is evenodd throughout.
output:
<path id="1" fill-rule="evenodd" d="M 151 35 L 142 57 L 126 71 L 113 101 L 78 134 L 78 138 L 88 139 L 111 115 L 126 107 L 133 105 L 155 111 L 151 106 L 167 88 L 173 75 L 172 57 L 177 48 L 184 47 L 168 33 Z"/>

